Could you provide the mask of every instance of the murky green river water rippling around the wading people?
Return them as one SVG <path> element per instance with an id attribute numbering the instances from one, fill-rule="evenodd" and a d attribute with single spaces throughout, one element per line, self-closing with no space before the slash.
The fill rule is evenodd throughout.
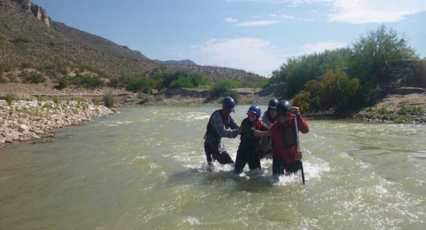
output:
<path id="1" fill-rule="evenodd" d="M 216 108 L 121 109 L 1 149 L 0 229 L 425 229 L 426 126 L 306 119 L 303 186 L 272 159 L 206 171 Z"/>

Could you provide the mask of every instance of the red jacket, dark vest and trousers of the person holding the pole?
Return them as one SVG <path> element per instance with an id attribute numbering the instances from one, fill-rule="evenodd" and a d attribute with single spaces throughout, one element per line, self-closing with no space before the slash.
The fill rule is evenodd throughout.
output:
<path id="1" fill-rule="evenodd" d="M 308 133 L 308 124 L 302 116 L 297 116 L 299 131 Z M 294 114 L 290 114 L 290 120 L 285 125 L 282 125 L 279 121 L 275 121 L 271 129 L 271 136 L 274 141 L 272 173 L 284 174 L 284 170 L 288 173 L 297 172 L 300 169 L 300 160 L 295 160 L 298 148 Z"/>

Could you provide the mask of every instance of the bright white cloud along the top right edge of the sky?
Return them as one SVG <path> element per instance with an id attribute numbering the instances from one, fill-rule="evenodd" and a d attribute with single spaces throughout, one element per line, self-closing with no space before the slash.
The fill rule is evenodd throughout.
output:
<path id="1" fill-rule="evenodd" d="M 426 11 L 424 0 L 227 0 L 286 3 L 289 6 L 302 4 L 325 4 L 329 6 L 327 21 L 348 24 L 396 22 L 408 15 Z"/>

